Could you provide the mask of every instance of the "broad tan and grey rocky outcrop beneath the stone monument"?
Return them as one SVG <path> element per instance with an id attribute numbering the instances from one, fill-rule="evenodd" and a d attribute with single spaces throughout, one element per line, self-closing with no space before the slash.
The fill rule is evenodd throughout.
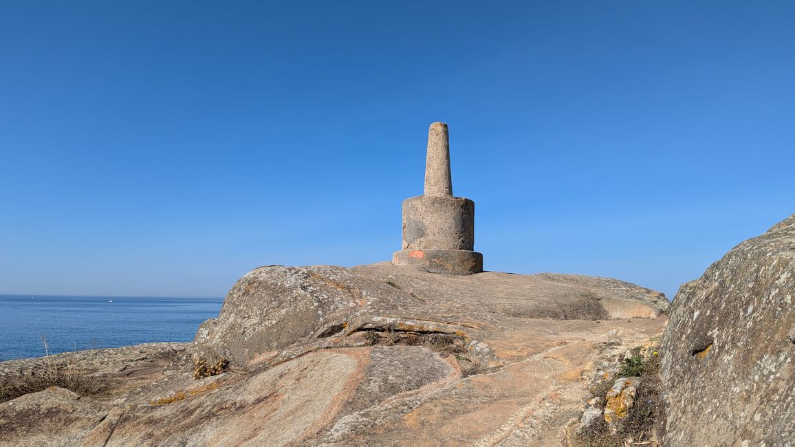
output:
<path id="1" fill-rule="evenodd" d="M 607 278 L 261 267 L 193 344 L 0 363 L 106 384 L 0 404 L 0 445 L 578 445 L 595 380 L 668 308 Z"/>

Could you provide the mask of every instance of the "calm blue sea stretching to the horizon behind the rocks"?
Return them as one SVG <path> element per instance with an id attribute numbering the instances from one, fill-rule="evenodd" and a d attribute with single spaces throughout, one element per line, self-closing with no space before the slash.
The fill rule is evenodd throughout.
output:
<path id="1" fill-rule="evenodd" d="M 191 341 L 223 298 L 0 295 L 0 361 L 49 353 Z"/>

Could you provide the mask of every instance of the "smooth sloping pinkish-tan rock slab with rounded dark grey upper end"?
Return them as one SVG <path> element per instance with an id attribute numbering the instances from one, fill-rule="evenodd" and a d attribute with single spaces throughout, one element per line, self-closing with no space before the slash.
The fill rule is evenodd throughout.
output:
<path id="1" fill-rule="evenodd" d="M 108 445 L 312 445 L 335 419 L 454 373 L 421 347 L 312 352 L 244 379 L 203 379 L 180 401 L 139 406 Z"/>

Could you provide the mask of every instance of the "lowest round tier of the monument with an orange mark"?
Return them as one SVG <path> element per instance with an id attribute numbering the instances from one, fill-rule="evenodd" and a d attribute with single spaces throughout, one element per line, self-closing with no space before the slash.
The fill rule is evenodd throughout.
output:
<path id="1" fill-rule="evenodd" d="M 473 274 L 483 271 L 483 255 L 469 250 L 401 250 L 392 255 L 395 266 L 419 266 L 431 273 Z"/>

